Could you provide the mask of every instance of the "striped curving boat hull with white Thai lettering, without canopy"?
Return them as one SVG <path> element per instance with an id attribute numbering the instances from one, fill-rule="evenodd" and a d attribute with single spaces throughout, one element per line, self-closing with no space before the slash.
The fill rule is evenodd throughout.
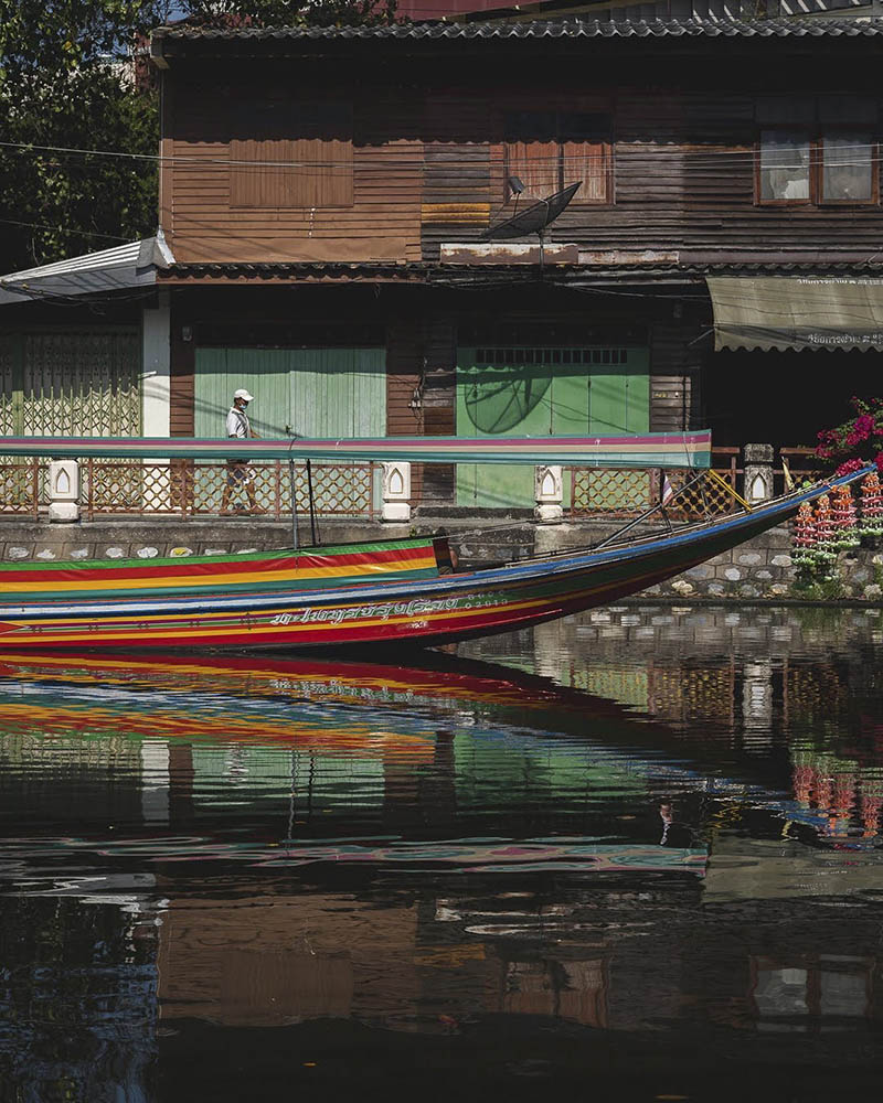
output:
<path id="1" fill-rule="evenodd" d="M 3 592 L 0 649 L 315 650 L 492 635 L 636 593 L 779 524 L 827 489 L 623 547 L 457 575 L 390 579 L 380 571 L 381 580 L 332 579 L 323 587 L 283 579 L 273 586 L 249 582 L 234 592 L 125 598 L 109 588 L 100 597 L 53 600 L 10 600 Z M 311 554 L 321 557 L 322 550 Z"/>

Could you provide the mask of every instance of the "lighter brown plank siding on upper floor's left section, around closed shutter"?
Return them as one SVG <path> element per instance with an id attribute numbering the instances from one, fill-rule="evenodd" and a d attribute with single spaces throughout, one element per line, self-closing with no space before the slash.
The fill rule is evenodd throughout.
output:
<path id="1" fill-rule="evenodd" d="M 418 260 L 423 146 L 402 127 L 403 104 L 394 88 L 365 95 L 327 82 L 329 103 L 349 108 L 351 140 L 339 130 L 285 132 L 285 119 L 254 119 L 243 109 L 262 97 L 321 106 L 322 92 L 305 84 L 280 93 L 257 73 L 244 71 L 234 87 L 217 86 L 211 74 L 194 73 L 175 84 L 174 118 L 163 152 L 162 194 L 171 208 L 166 226 L 175 259 L 188 261 Z M 411 105 L 404 108 L 411 110 Z M 392 124 L 392 126 L 391 126 Z M 297 130 L 297 117 L 291 124 Z M 392 131 L 392 132 L 391 132 Z M 288 160 L 329 159 L 317 175 L 321 205 L 302 167 Z M 249 160 L 270 162 L 255 169 Z M 301 160 L 302 159 L 302 160 Z M 351 173 L 347 162 L 351 161 Z M 233 163 L 231 163 L 233 162 Z M 283 196 L 289 175 L 294 200 Z M 278 205 L 276 205 L 278 202 Z M 288 202 L 290 205 L 285 205 Z M 302 205 L 297 205 L 302 204 Z"/>

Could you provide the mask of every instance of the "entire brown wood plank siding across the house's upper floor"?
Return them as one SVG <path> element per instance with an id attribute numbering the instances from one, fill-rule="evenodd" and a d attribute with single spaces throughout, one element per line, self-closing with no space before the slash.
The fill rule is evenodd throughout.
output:
<path id="1" fill-rule="evenodd" d="M 530 51 L 518 63 L 483 43 L 483 64 L 464 63 L 456 76 L 447 61 L 415 51 L 370 66 L 353 63 L 342 69 L 345 78 L 333 81 L 318 61 L 298 61 L 297 83 L 287 84 L 279 62 L 275 69 L 244 63 L 235 85 L 220 63 L 217 69 L 182 64 L 166 77 L 162 151 L 173 160 L 163 168 L 161 217 L 183 263 L 434 260 L 442 243 L 478 240 L 513 210 L 506 192 L 507 117 L 566 108 L 607 114 L 611 126 L 609 202 L 577 197 L 552 228 L 553 240 L 576 243 L 586 258 L 652 250 L 679 254 L 682 263 L 859 259 L 883 245 L 879 203 L 755 202 L 755 105 L 777 93 L 850 93 L 874 97 L 883 115 L 874 78 L 880 54 L 868 41 L 872 45 L 851 40 L 851 65 L 833 42 L 826 43 L 822 65 L 820 47 L 804 56 L 809 47 L 798 40 L 791 53 L 704 42 L 691 57 L 620 51 L 619 61 L 614 47 L 621 43 L 609 44 L 609 56 L 598 43 L 594 55 L 570 43 L 550 56 L 542 43 L 530 42 L 521 44 Z M 657 54 L 674 50 L 671 42 L 661 45 Z M 268 127 L 257 108 L 248 109 L 266 100 L 321 110 L 323 95 L 329 109 L 349 105 L 350 140 L 342 124 L 319 138 L 319 131 L 279 132 L 280 124 Z M 298 124 L 286 126 L 297 130 Z M 319 186 L 302 168 L 291 170 L 301 173 L 302 186 L 285 202 L 323 195 L 313 206 L 274 205 L 272 184 L 285 167 L 266 165 L 268 175 L 255 178 L 247 165 L 231 164 L 252 157 L 321 160 L 334 148 L 336 165 L 326 173 L 334 180 Z M 258 181 L 252 200 L 243 180 Z M 603 199 L 598 188 L 594 196 Z"/>

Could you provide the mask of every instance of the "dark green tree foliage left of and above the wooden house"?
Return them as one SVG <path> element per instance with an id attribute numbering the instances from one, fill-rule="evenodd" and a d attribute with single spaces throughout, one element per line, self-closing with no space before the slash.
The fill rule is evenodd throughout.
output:
<path id="1" fill-rule="evenodd" d="M 134 63 L 151 28 L 172 14 L 327 26 L 394 12 L 394 0 L 0 0 L 0 274 L 155 232 L 158 96 Z"/>

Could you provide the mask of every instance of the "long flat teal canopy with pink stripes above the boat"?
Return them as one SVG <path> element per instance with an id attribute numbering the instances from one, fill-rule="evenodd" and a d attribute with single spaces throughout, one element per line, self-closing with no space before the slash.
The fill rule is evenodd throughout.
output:
<path id="1" fill-rule="evenodd" d="M 708 468 L 711 431 L 619 437 L 375 437 L 231 440 L 189 437 L 2 437 L 2 456 L 49 459 L 411 460 L 560 463 L 589 468 Z"/>

